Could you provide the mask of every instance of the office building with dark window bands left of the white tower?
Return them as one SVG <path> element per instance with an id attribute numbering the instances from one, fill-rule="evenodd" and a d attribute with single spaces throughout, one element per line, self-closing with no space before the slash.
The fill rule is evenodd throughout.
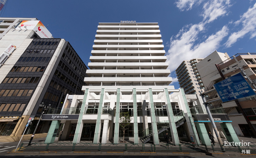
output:
<path id="1" fill-rule="evenodd" d="M 81 88 L 87 67 L 76 51 L 64 39 L 40 38 L 40 31 L 51 34 L 42 24 L 37 26 L 40 21 L 32 23 L 36 31 L 23 21 L 0 40 L 2 56 L 9 52 L 0 67 L 0 135 L 11 136 L 10 141 L 22 135 L 30 117 L 34 121 L 25 134 L 33 133 L 42 111 L 40 104 L 51 105 L 51 112 L 57 112 L 67 93 L 84 94 Z M 36 133 L 46 133 L 48 125 L 40 122 Z"/>

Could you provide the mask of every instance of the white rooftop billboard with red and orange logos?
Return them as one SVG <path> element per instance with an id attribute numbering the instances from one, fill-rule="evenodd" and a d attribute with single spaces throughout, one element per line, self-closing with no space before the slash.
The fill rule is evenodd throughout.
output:
<path id="1" fill-rule="evenodd" d="M 46 29 L 45 25 L 39 20 L 23 20 L 15 30 L 34 30 L 41 38 L 51 38 L 52 34 Z"/>

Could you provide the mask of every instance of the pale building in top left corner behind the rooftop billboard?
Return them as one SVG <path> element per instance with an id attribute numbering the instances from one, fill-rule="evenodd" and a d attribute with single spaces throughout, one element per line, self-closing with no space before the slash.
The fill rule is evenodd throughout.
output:
<path id="1" fill-rule="evenodd" d="M 37 20 L 36 18 L 2 18 L 0 17 L 0 39 L 12 28 L 16 28 L 23 20 Z"/>

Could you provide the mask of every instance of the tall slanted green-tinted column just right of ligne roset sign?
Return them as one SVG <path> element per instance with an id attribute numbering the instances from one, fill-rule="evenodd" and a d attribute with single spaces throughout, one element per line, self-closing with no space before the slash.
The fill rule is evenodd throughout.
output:
<path id="1" fill-rule="evenodd" d="M 86 88 L 85 92 L 84 92 L 84 96 L 83 96 L 83 102 L 82 102 L 81 110 L 80 110 L 80 113 L 79 113 L 79 118 L 78 118 L 78 122 L 77 122 L 77 127 L 76 127 L 76 131 L 75 131 L 73 143 L 79 143 L 80 142 L 81 133 L 82 133 L 82 129 L 83 129 L 82 118 L 83 118 L 83 113 L 84 113 L 84 110 L 85 110 L 85 102 L 86 102 L 86 99 L 87 99 L 88 91 L 89 91 L 89 89 Z"/>

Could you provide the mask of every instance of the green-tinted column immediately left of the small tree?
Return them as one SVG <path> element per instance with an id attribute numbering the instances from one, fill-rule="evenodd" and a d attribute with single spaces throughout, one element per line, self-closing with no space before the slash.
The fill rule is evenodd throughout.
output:
<path id="1" fill-rule="evenodd" d="M 120 88 L 117 88 L 116 107 L 115 107 L 115 131 L 114 131 L 114 144 L 118 144 L 119 137 L 119 114 L 120 114 Z"/>

